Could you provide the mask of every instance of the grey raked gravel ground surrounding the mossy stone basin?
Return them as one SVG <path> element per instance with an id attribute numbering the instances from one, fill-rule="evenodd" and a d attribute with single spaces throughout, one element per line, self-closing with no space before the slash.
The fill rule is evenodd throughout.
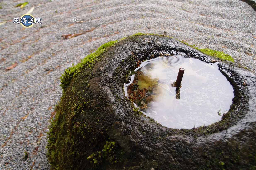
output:
<path id="1" fill-rule="evenodd" d="M 166 34 L 224 51 L 256 70 L 255 11 L 240 0 L 48 0 L 14 7 L 21 2 L 0 3 L 0 23 L 7 21 L 0 25 L 0 169 L 49 169 L 46 133 L 62 93 L 59 77 L 110 40 L 137 32 Z M 31 14 L 42 18 L 41 25 L 13 23 L 33 6 Z M 64 18 L 92 22 L 55 23 Z M 85 31 L 67 40 L 61 37 Z M 13 63 L 17 66 L 6 71 Z"/>

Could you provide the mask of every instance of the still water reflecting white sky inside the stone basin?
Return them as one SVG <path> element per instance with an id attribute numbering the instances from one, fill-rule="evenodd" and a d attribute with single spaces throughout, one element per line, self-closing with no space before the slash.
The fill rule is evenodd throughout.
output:
<path id="1" fill-rule="evenodd" d="M 182 55 L 144 61 L 124 85 L 125 95 L 163 126 L 190 129 L 210 125 L 221 120 L 234 97 L 217 64 Z M 185 69 L 182 87 L 176 89 L 171 84 L 181 67 Z"/>

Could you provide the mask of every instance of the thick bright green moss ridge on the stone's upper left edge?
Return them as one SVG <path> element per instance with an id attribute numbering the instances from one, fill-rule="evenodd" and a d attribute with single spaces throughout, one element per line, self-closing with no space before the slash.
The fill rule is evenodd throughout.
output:
<path id="1" fill-rule="evenodd" d="M 60 77 L 61 80 L 61 87 L 62 89 L 65 89 L 73 76 L 75 76 L 77 73 L 79 73 L 81 71 L 81 69 L 87 64 L 87 66 L 89 68 L 91 68 L 93 66 L 93 64 L 95 63 L 95 60 L 97 60 L 97 58 L 104 53 L 106 50 L 108 50 L 109 47 L 113 46 L 118 40 L 115 41 L 110 41 L 108 43 L 103 44 L 102 46 L 100 46 L 97 51 L 95 51 L 94 53 L 91 53 L 89 55 L 87 55 L 84 59 L 81 60 L 80 63 L 78 63 L 76 66 L 73 65 L 73 67 L 70 67 L 68 69 L 65 70 L 64 74 L 62 74 L 62 76 Z"/>

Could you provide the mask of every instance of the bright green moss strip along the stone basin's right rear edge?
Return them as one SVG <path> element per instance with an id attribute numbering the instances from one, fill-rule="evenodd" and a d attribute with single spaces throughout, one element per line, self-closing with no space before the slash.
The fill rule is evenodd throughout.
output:
<path id="1" fill-rule="evenodd" d="M 190 45 L 188 43 L 185 43 L 184 41 L 180 41 L 180 42 L 182 42 L 182 43 L 186 44 L 187 46 L 190 46 L 190 47 L 192 47 L 192 48 L 194 48 L 194 49 L 196 49 L 196 50 L 198 50 L 198 51 L 200 51 L 200 52 L 202 52 L 202 53 L 204 53 L 208 56 L 217 57 L 221 60 L 227 60 L 227 61 L 234 62 L 233 57 L 231 57 L 228 54 L 223 53 L 222 51 L 216 51 L 216 50 L 212 50 L 212 49 L 208 49 L 208 48 L 198 48 L 195 45 Z"/>

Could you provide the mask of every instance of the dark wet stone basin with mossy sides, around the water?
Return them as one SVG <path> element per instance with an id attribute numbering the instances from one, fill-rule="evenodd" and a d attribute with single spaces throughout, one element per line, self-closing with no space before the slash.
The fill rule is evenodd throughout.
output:
<path id="1" fill-rule="evenodd" d="M 135 109 L 124 95 L 124 83 L 139 60 L 179 53 L 207 63 L 211 58 L 155 35 L 131 36 L 100 49 L 62 76 L 63 96 L 47 145 L 52 169 L 256 167 L 254 73 L 219 63 L 234 88 L 230 111 L 209 126 L 171 129 Z"/>

